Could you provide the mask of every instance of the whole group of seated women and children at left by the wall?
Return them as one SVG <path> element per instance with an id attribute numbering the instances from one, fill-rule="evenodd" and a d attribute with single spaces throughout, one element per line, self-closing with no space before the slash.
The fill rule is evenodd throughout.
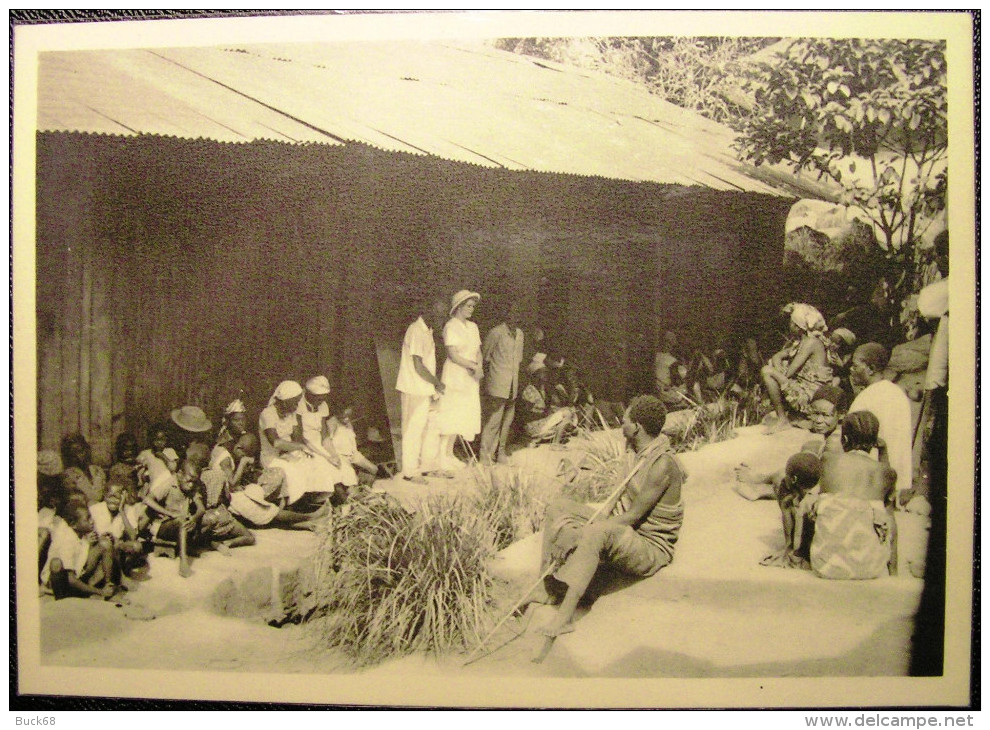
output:
<path id="1" fill-rule="evenodd" d="M 225 409 L 215 439 L 202 409 L 177 408 L 170 423 L 148 429 L 143 451 L 131 434 L 118 437 L 109 470 L 92 463 L 78 434 L 62 440 L 61 454 L 39 452 L 41 584 L 56 599 L 109 599 L 123 577 L 147 579 L 156 546 L 180 554 L 187 575 L 187 550 L 228 554 L 255 543 L 251 528 L 314 529 L 349 487 L 378 472 L 357 448 L 351 407 L 331 415 L 329 390 L 322 376 L 305 394 L 286 381 L 262 412 L 258 436 L 247 430 L 240 399 Z"/>

